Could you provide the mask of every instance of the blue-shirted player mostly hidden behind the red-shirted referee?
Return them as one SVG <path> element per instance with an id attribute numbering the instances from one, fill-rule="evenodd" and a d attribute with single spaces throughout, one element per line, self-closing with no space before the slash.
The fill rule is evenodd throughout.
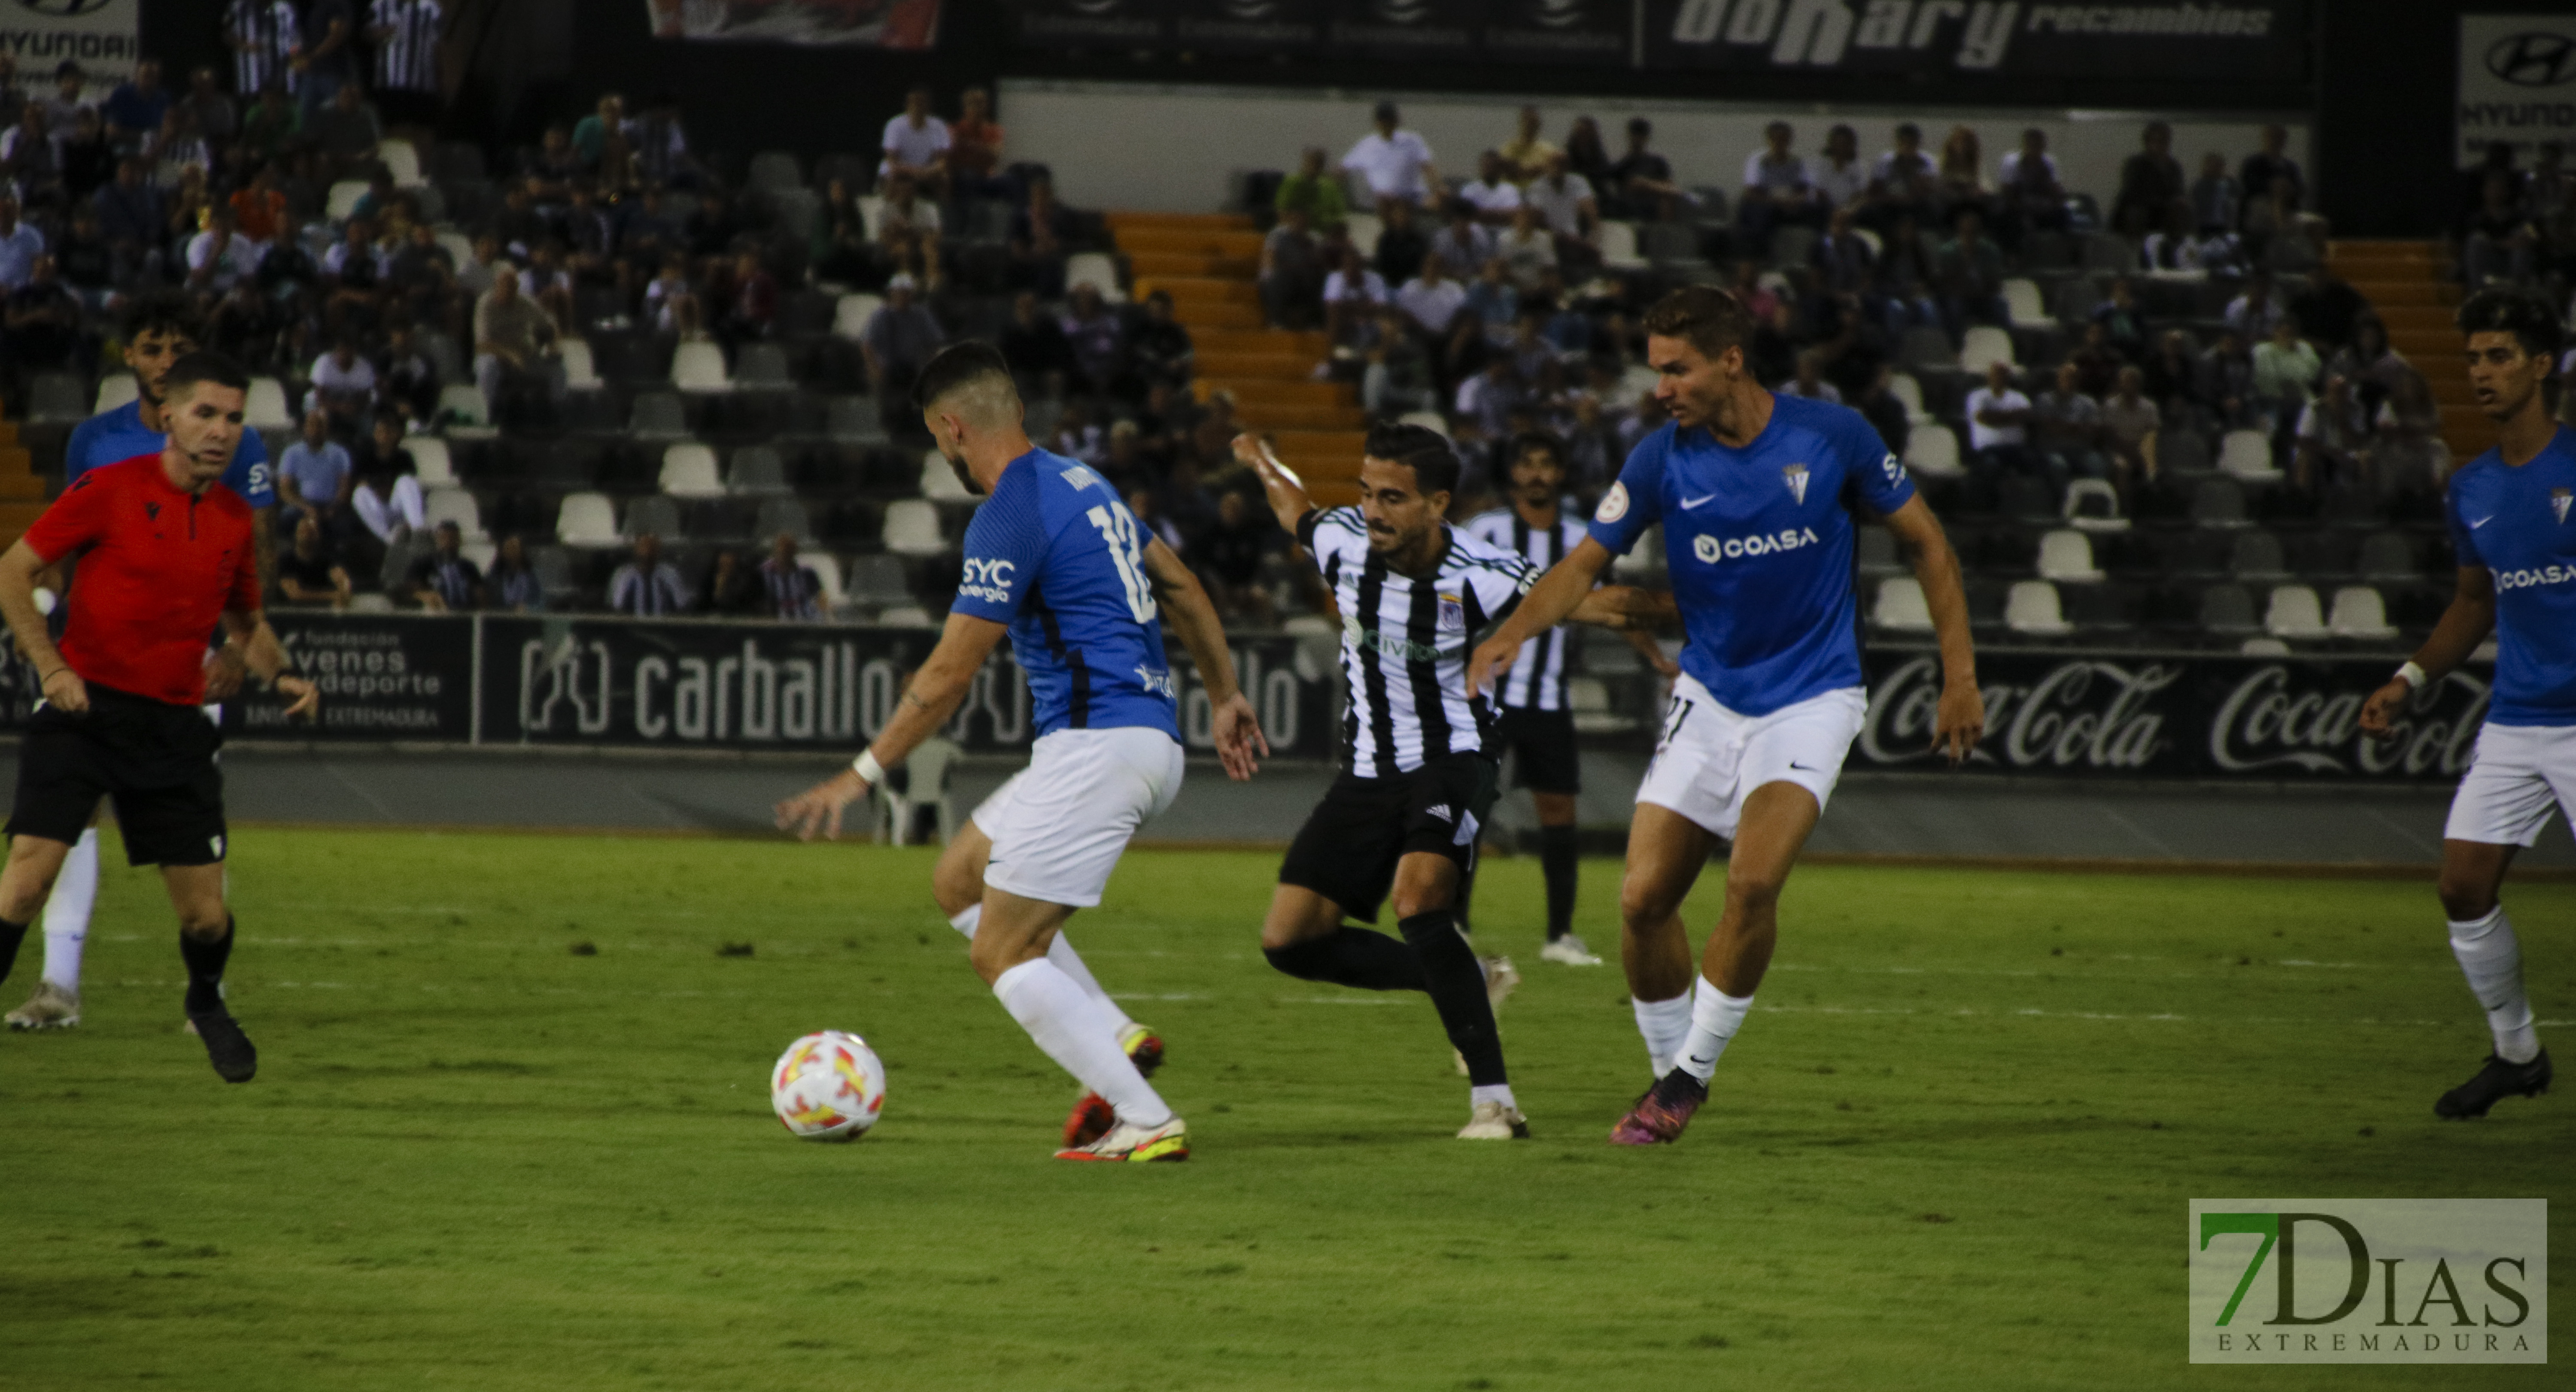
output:
<path id="1" fill-rule="evenodd" d="M 126 309 L 126 371 L 134 374 L 137 397 L 116 410 L 103 410 L 72 430 L 72 443 L 62 456 L 62 487 L 108 464 L 121 464 L 137 454 L 162 451 L 162 376 L 170 363 L 193 353 L 201 333 L 196 307 L 183 294 L 162 291 L 134 299 Z M 276 492 L 268 482 L 268 446 L 258 430 L 242 430 L 242 443 L 232 451 L 224 485 L 250 503 L 250 539 L 260 562 L 260 593 L 276 577 L 276 552 L 268 523 L 276 516 Z M 72 580 L 72 562 L 44 577 L 44 590 L 62 595 Z M 57 601 L 57 614 L 59 614 Z M 227 644 L 206 665 L 206 701 L 222 701 L 242 686 L 242 650 Z M 206 717 L 216 719 L 222 706 L 209 704 Z M 80 833 L 54 892 L 44 902 L 44 977 L 26 1005 L 5 1016 L 10 1029 L 70 1029 L 80 1023 L 80 954 L 90 936 L 90 905 L 98 902 L 98 827 Z"/>

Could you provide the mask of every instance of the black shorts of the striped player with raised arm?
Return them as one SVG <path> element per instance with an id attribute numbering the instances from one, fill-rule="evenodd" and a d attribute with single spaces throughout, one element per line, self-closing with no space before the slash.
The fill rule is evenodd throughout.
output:
<path id="1" fill-rule="evenodd" d="M 1430 851 L 1476 869 L 1476 835 L 1494 809 L 1494 760 L 1443 755 L 1394 778 L 1342 773 L 1288 846 L 1280 884 L 1314 889 L 1363 923 L 1396 884 L 1396 861 Z"/>

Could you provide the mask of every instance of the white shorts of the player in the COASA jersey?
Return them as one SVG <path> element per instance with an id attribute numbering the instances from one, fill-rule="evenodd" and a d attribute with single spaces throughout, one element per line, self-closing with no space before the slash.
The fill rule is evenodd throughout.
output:
<path id="1" fill-rule="evenodd" d="M 1664 737 L 1636 799 L 1669 807 L 1716 835 L 1736 835 L 1762 784 L 1798 784 L 1821 812 L 1842 778 L 1870 701 L 1857 686 L 1808 696 L 1767 717 L 1728 711 L 1687 673 L 1672 683 Z"/>

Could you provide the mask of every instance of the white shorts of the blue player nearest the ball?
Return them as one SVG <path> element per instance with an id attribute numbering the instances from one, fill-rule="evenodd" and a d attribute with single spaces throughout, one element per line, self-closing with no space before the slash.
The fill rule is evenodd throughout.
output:
<path id="1" fill-rule="evenodd" d="M 1056 730 L 974 809 L 992 838 L 984 887 L 1092 907 L 1136 827 L 1180 797 L 1180 742 L 1162 730 Z"/>

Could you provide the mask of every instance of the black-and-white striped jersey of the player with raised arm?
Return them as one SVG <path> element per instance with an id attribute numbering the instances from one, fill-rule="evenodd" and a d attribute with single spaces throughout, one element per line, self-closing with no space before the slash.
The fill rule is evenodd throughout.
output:
<path id="1" fill-rule="evenodd" d="M 1342 768 L 1388 778 L 1422 760 L 1473 753 L 1486 742 L 1494 709 L 1466 696 L 1466 655 L 1489 624 L 1502 621 L 1538 583 L 1538 570 L 1510 549 L 1443 528 L 1448 546 L 1430 580 L 1388 570 L 1368 549 L 1358 508 L 1316 508 L 1298 518 L 1296 539 L 1342 611 Z"/>

